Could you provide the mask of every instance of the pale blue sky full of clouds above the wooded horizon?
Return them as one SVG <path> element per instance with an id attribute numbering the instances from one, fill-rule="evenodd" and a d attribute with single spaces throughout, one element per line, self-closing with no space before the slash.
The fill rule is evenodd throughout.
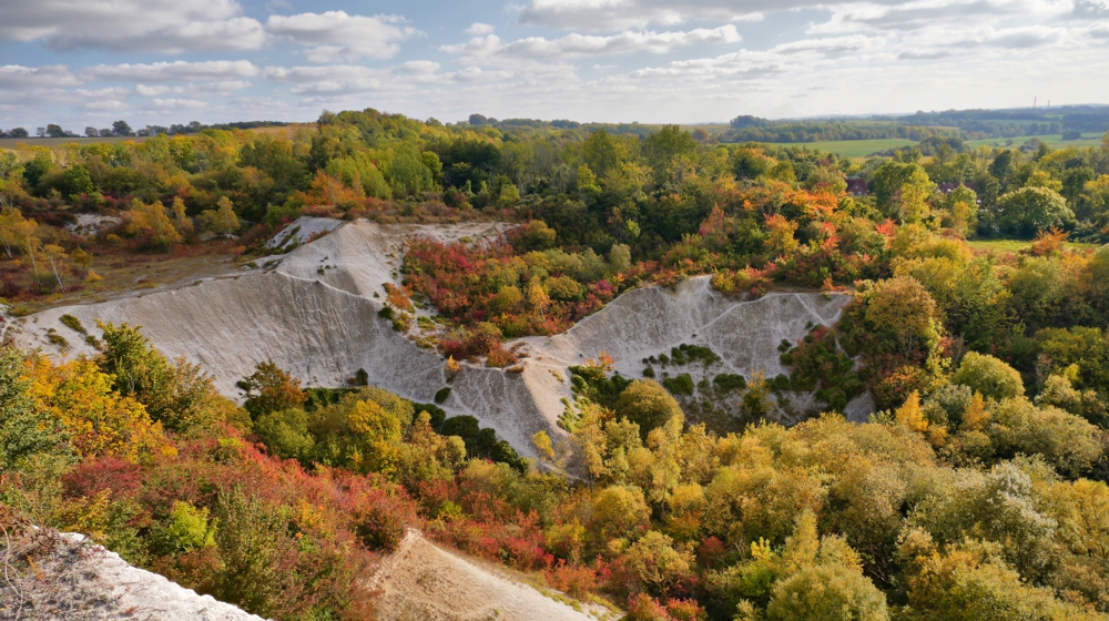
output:
<path id="1" fill-rule="evenodd" d="M 0 0 L 0 128 L 1109 103 L 1109 0 Z"/>

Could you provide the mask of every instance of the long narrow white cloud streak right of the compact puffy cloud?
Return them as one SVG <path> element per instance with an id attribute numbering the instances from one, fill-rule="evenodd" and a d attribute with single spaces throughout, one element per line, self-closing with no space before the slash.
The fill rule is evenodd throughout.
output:
<path id="1" fill-rule="evenodd" d="M 632 32 L 610 37 L 571 33 L 559 39 L 529 37 L 502 43 L 496 34 L 478 37 L 460 45 L 445 45 L 442 51 L 470 59 L 489 57 L 528 59 L 573 59 L 631 52 L 663 54 L 675 48 L 712 43 L 736 43 L 740 34 L 732 24 L 699 28 L 685 32 Z"/>

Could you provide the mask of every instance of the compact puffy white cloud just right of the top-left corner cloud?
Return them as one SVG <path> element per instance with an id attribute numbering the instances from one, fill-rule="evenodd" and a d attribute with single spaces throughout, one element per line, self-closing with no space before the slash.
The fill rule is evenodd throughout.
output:
<path id="1" fill-rule="evenodd" d="M 391 58 L 398 43 L 416 33 L 395 16 L 348 16 L 344 11 L 272 16 L 266 21 L 269 33 L 309 45 L 308 60 L 328 63 L 358 58 Z"/>

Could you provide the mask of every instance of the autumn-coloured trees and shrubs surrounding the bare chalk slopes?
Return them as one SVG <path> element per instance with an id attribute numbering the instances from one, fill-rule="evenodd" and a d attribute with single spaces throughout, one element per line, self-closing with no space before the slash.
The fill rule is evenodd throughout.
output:
<path id="1" fill-rule="evenodd" d="M 597 353 L 566 378 L 564 437 L 532 438 L 538 461 L 357 377 L 305 389 L 257 360 L 240 407 L 136 328 L 98 337 L 72 318 L 96 356 L 0 355 L 0 523 L 92 533 L 277 619 L 365 618 L 354 577 L 406 525 L 631 619 L 1105 619 L 1109 134 L 1065 150 L 919 140 L 853 160 L 673 125 L 366 110 L 2 151 L 13 310 L 101 291 L 96 271 L 135 257 L 255 261 L 305 214 L 512 224 L 488 243 L 416 240 L 383 292 L 381 316 L 447 373 L 511 368 L 503 339 L 695 275 L 723 295 L 849 303 L 781 345 L 779 377 L 694 385 L 676 369 L 714 354 L 682 346 L 625 378 Z M 114 220 L 65 227 L 90 216 Z M 810 393 L 800 425 L 767 420 Z M 863 394 L 876 411 L 848 423 Z M 731 424 L 703 416 L 716 405 Z"/>

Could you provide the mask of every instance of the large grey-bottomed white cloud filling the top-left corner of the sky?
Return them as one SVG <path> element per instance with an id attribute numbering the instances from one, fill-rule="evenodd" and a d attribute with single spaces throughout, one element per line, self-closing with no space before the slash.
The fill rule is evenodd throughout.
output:
<path id="1" fill-rule="evenodd" d="M 33 0 L 3 6 L 0 38 L 53 50 L 256 50 L 265 31 L 235 0 Z"/>

